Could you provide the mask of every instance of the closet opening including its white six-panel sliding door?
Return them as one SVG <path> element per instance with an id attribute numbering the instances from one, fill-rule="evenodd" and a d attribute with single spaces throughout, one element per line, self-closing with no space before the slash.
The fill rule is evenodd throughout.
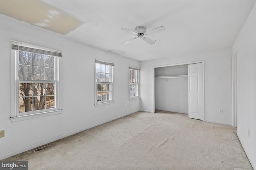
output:
<path id="1" fill-rule="evenodd" d="M 204 121 L 204 62 L 154 67 L 155 110 Z"/>

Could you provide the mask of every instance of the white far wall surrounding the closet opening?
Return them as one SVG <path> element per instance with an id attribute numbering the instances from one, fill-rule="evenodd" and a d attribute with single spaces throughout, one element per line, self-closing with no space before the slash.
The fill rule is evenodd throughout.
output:
<path id="1" fill-rule="evenodd" d="M 140 107 L 154 112 L 154 66 L 204 61 L 205 121 L 232 125 L 232 48 L 140 62 Z M 218 113 L 223 109 L 223 113 Z"/>

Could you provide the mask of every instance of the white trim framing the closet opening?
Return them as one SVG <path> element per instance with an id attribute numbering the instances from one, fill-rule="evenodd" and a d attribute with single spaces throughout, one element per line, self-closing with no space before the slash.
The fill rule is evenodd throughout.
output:
<path id="1" fill-rule="evenodd" d="M 196 63 L 202 63 L 202 88 L 203 88 L 203 120 L 205 120 L 205 97 L 204 97 L 204 60 L 202 61 L 192 61 L 192 62 L 186 62 L 186 63 L 176 63 L 176 64 L 166 64 L 166 65 L 159 65 L 159 66 L 153 66 L 153 113 L 156 112 L 155 110 L 155 68 L 159 67 L 166 67 L 166 66 L 178 66 L 178 65 L 184 65 L 184 64 L 196 64 Z"/>

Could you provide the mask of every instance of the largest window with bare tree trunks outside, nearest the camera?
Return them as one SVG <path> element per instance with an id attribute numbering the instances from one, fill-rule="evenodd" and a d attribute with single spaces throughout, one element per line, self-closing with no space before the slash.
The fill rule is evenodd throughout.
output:
<path id="1" fill-rule="evenodd" d="M 12 117 L 58 110 L 61 53 L 18 42 L 12 42 L 12 50 L 16 80 Z"/>

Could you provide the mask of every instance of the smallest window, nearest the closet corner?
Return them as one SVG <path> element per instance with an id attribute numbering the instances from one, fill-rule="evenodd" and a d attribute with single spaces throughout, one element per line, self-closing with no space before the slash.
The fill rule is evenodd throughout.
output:
<path id="1" fill-rule="evenodd" d="M 140 96 L 140 69 L 130 67 L 130 98 L 137 98 Z"/>

